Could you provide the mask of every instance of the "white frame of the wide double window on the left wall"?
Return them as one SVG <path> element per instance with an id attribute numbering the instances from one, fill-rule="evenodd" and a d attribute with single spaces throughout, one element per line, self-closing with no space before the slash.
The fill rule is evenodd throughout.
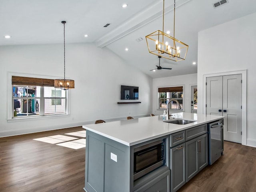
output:
<path id="1" fill-rule="evenodd" d="M 41 97 L 40 97 L 40 115 L 35 116 L 25 116 L 22 118 L 13 118 L 14 114 L 14 106 L 13 106 L 13 86 L 12 86 L 12 76 L 24 76 L 24 77 L 31 77 L 31 78 L 48 78 L 48 79 L 57 79 L 60 77 L 54 77 L 54 76 L 42 76 L 42 75 L 36 75 L 36 74 L 21 74 L 16 72 L 8 72 L 7 74 L 7 122 L 13 122 L 13 121 L 30 121 L 30 120 L 37 120 L 37 119 L 48 119 L 48 118 L 61 118 L 61 117 L 68 117 L 70 116 L 70 91 L 66 91 L 66 102 L 65 102 L 65 114 L 51 114 L 51 115 L 45 115 L 44 114 L 44 89 L 41 87 Z M 31 97 L 24 97 L 24 99 L 36 99 Z M 23 97 L 22 97 L 23 99 Z"/>

